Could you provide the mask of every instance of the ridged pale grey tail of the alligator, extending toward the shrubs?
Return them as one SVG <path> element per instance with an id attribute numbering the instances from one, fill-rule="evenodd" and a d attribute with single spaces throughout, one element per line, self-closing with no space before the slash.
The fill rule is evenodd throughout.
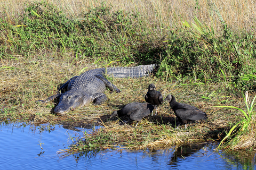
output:
<path id="1" fill-rule="evenodd" d="M 108 67 L 107 74 L 115 78 L 141 78 L 157 70 L 157 64 L 139 65 L 135 67 Z"/>

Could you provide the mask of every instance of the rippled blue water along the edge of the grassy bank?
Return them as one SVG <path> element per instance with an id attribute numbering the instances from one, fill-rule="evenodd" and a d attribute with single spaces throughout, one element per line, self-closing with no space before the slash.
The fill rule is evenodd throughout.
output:
<path id="1" fill-rule="evenodd" d="M 255 156 L 215 152 L 214 143 L 143 151 L 95 150 L 61 157 L 57 152 L 67 149 L 71 138 L 100 128 L 74 128 L 80 125 L 2 123 L 0 169 L 256 169 Z"/>

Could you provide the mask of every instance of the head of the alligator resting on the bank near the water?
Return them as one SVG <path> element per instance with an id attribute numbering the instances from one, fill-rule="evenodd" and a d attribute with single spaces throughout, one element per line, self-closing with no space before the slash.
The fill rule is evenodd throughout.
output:
<path id="1" fill-rule="evenodd" d="M 54 113 L 63 114 L 91 103 L 91 97 L 84 91 L 69 90 L 61 95 L 59 104 L 55 107 Z"/>

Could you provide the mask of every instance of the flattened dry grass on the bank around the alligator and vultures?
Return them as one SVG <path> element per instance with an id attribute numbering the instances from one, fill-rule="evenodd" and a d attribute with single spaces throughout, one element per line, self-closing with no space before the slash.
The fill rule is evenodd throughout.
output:
<path id="1" fill-rule="evenodd" d="M 225 104 L 244 107 L 243 99 L 230 94 L 228 84 L 225 83 L 202 84 L 190 80 L 169 82 L 156 77 L 109 78 L 121 89 L 120 94 L 111 94 L 109 90 L 106 90 L 105 94 L 109 100 L 105 104 L 100 106 L 90 104 L 71 111 L 65 116 L 58 116 L 53 114 L 54 103 L 36 104 L 35 101 L 57 93 L 58 84 L 65 83 L 74 75 L 79 75 L 85 67 L 88 68 L 84 71 L 96 67 L 93 64 L 94 60 L 90 63 L 88 61 L 75 63 L 67 59 L 68 55 L 48 57 L 44 60 L 27 60 L 22 57 L 17 57 L 17 60 L 1 60 L 1 120 L 31 121 L 36 124 L 68 121 L 83 124 L 94 123 L 105 127 L 94 134 L 112 133 L 116 138 L 116 145 L 125 146 L 126 143 L 129 148 L 142 149 L 221 139 L 225 135 L 222 131 L 228 130 L 229 124 L 235 123 L 241 115 L 229 109 L 213 106 Z M 97 67 L 105 65 L 106 63 L 101 63 Z M 143 119 L 137 129 L 132 127 L 135 122 L 123 122 L 128 121 L 126 117 L 121 117 L 120 120 L 117 118 L 110 120 L 110 115 L 114 110 L 135 101 L 144 102 L 149 83 L 154 83 L 164 97 L 172 94 L 180 103 L 202 109 L 209 116 L 209 120 L 190 124 L 188 129 L 181 126 L 176 130 L 174 129 L 175 115 L 169 103 L 164 103 L 159 107 L 157 116 Z M 149 134 L 150 137 L 148 137 Z M 136 142 L 133 143 L 134 141 Z"/>

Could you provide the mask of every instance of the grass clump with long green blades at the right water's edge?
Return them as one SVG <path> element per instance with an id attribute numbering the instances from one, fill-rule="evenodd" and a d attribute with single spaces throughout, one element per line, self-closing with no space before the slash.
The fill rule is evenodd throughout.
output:
<path id="1" fill-rule="evenodd" d="M 246 91 L 244 101 L 246 105 L 246 111 L 234 106 L 219 106 L 227 108 L 235 108 L 243 113 L 241 121 L 235 123 L 227 133 L 226 137 L 222 139 L 219 145 L 219 149 L 234 150 L 234 149 L 253 149 L 256 146 L 256 120 L 255 120 L 255 98 L 253 98 L 251 104 Z"/>

